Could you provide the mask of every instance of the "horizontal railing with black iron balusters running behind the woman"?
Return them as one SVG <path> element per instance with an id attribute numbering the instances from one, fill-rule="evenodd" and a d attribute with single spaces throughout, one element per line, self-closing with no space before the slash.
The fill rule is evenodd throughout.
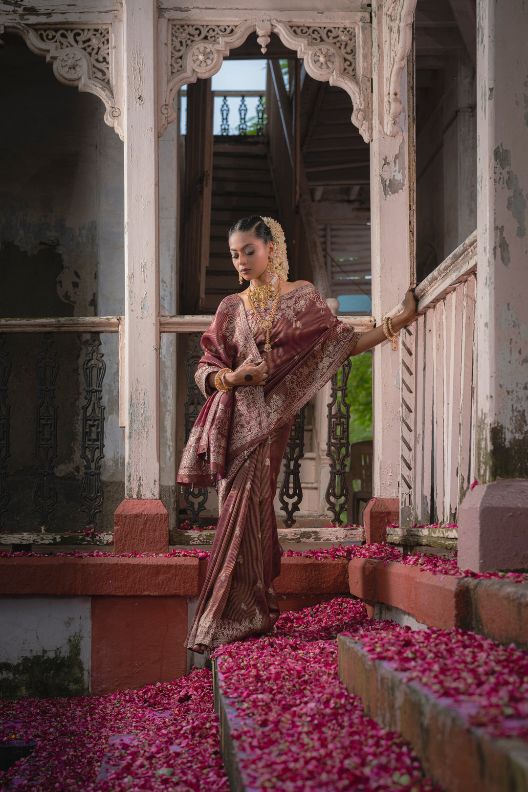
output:
<path id="1" fill-rule="evenodd" d="M 348 324 L 364 331 L 372 326 L 370 318 L 344 317 Z M 205 401 L 194 379 L 199 358 L 202 355 L 200 340 L 210 326 L 212 317 L 207 316 L 163 316 L 160 319 L 161 333 L 185 333 L 188 348 L 184 358 L 187 378 L 187 395 L 184 402 L 185 441 Z M 84 467 L 78 483 L 79 510 L 84 512 L 84 529 L 97 528 L 98 515 L 104 501 L 101 464 L 104 459 L 105 407 L 103 398 L 106 364 L 101 352 L 101 333 L 119 333 L 120 367 L 120 425 L 124 425 L 124 321 L 123 317 L 57 318 L 57 319 L 12 319 L 0 321 L 0 527 L 2 517 L 9 506 L 8 459 L 11 439 L 11 410 L 9 406 L 9 376 L 13 361 L 9 355 L 8 337 L 14 334 L 39 333 L 42 338 L 36 360 L 37 402 L 35 406 L 35 451 L 38 469 L 35 474 L 33 503 L 38 515 L 38 527 L 48 531 L 57 505 L 55 463 L 59 443 L 59 411 L 56 398 L 59 357 L 55 351 L 55 333 L 78 333 L 88 340 L 83 341 L 84 360 L 84 404 L 82 406 L 80 456 Z M 325 493 L 326 503 L 332 512 L 333 522 L 340 524 L 348 503 L 346 483 L 346 461 L 349 447 L 349 406 L 347 390 L 350 363 L 346 361 L 341 375 L 332 378 L 331 400 L 327 414 L 327 453 L 329 456 L 329 485 Z M 11 394 L 13 398 L 13 394 Z M 302 505 L 301 461 L 304 456 L 305 408 L 303 407 L 291 427 L 284 456 L 283 482 L 279 491 L 279 503 L 285 513 L 283 523 L 291 527 L 295 514 Z M 207 489 L 184 488 L 184 501 L 188 519 L 192 524 L 202 523 L 206 508 Z M 25 529 L 27 530 L 27 528 Z"/>

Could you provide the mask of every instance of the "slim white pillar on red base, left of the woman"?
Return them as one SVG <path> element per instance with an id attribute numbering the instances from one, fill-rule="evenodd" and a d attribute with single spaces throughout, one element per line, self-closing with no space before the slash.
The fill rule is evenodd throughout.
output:
<path id="1" fill-rule="evenodd" d="M 114 551 L 168 547 L 160 497 L 158 7 L 123 3 L 125 498 Z M 131 502 L 131 501 L 135 502 Z M 165 514 L 164 514 L 165 511 Z"/>

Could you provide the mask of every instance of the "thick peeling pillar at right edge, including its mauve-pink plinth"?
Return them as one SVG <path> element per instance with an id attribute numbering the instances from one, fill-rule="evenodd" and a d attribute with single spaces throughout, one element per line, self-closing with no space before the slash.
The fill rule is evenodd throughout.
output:
<path id="1" fill-rule="evenodd" d="M 477 470 L 458 562 L 528 566 L 528 6 L 477 6 Z"/>

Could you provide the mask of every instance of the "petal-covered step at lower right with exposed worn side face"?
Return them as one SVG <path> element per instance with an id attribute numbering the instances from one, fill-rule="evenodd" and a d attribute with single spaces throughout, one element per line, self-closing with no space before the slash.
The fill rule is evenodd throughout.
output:
<path id="1" fill-rule="evenodd" d="M 528 790 L 528 655 L 463 630 L 340 635 L 339 676 L 446 792 Z"/>

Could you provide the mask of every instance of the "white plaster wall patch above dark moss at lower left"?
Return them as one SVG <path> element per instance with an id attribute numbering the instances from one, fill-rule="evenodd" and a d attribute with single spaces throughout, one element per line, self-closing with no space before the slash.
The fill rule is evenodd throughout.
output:
<path id="1" fill-rule="evenodd" d="M 67 655 L 68 638 L 80 638 L 85 685 L 89 685 L 92 645 L 91 597 L 4 596 L 0 600 L 0 662 L 58 652 Z"/>

